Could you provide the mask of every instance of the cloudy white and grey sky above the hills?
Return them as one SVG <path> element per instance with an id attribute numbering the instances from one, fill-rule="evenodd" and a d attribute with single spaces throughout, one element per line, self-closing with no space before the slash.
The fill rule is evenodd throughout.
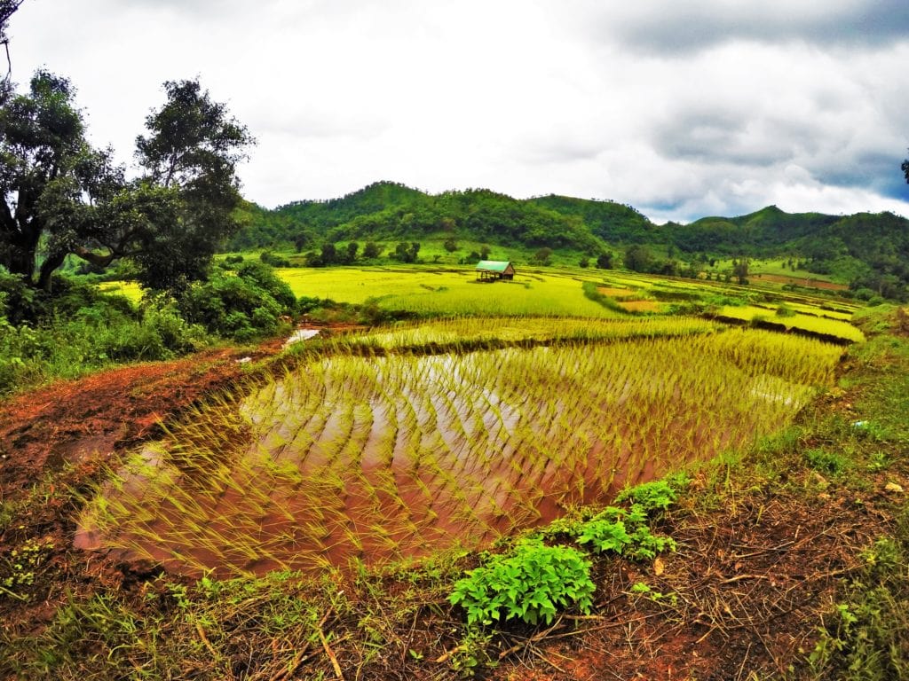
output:
<path id="1" fill-rule="evenodd" d="M 69 77 L 125 163 L 198 76 L 267 207 L 393 180 L 909 216 L 906 0 L 25 0 L 9 34 L 14 80 Z"/>

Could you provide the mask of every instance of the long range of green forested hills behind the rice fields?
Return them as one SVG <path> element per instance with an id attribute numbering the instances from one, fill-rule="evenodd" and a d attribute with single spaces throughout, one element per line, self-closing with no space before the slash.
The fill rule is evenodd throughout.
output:
<path id="1" fill-rule="evenodd" d="M 592 256 L 628 246 L 675 252 L 683 261 L 711 257 L 782 257 L 856 287 L 899 297 L 909 283 L 909 221 L 893 213 L 787 213 L 776 206 L 736 217 L 657 225 L 631 206 L 554 194 L 514 199 L 485 189 L 427 194 L 374 183 L 331 201 L 300 201 L 267 211 L 252 203 L 232 250 L 318 248 L 348 241 L 419 242 L 445 238 L 571 249 Z"/>

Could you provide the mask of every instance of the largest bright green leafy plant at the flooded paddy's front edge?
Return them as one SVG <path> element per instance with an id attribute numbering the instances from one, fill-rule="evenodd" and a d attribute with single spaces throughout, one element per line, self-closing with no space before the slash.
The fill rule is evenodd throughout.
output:
<path id="1" fill-rule="evenodd" d="M 500 619 L 550 624 L 558 607 L 589 613 L 594 593 L 591 563 L 575 548 L 524 539 L 511 554 L 495 555 L 454 585 L 449 600 L 464 607 L 468 625 Z"/>

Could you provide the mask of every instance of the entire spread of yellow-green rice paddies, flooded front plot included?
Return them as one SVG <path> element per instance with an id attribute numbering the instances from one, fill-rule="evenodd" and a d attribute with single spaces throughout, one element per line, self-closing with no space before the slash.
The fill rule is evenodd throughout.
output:
<path id="1" fill-rule="evenodd" d="M 778 331 L 862 341 L 846 303 L 712 282 L 279 273 L 422 321 L 298 344 L 283 374 L 170 424 L 89 494 L 77 545 L 219 577 L 481 548 L 784 427 L 842 349 Z"/>

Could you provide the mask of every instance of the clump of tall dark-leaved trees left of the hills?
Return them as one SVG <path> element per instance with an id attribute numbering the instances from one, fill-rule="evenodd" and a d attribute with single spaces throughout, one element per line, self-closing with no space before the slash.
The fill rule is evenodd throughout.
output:
<path id="1" fill-rule="evenodd" d="M 165 93 L 136 140 L 142 175 L 131 181 L 86 142 L 65 78 L 39 72 L 0 107 L 0 264 L 45 290 L 70 253 L 101 268 L 131 259 L 154 289 L 205 275 L 234 227 L 235 167 L 253 140 L 198 82 Z"/>

